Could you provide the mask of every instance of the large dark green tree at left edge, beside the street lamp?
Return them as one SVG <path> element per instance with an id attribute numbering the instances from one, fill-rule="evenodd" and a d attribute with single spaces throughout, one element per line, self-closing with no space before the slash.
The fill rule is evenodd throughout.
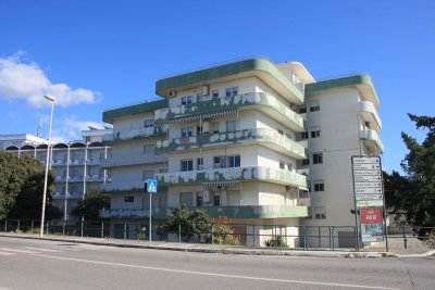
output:
<path id="1" fill-rule="evenodd" d="M 45 167 L 30 155 L 0 151 L 0 219 L 40 219 Z M 58 216 L 50 204 L 53 177 L 48 178 L 46 218 Z"/>

